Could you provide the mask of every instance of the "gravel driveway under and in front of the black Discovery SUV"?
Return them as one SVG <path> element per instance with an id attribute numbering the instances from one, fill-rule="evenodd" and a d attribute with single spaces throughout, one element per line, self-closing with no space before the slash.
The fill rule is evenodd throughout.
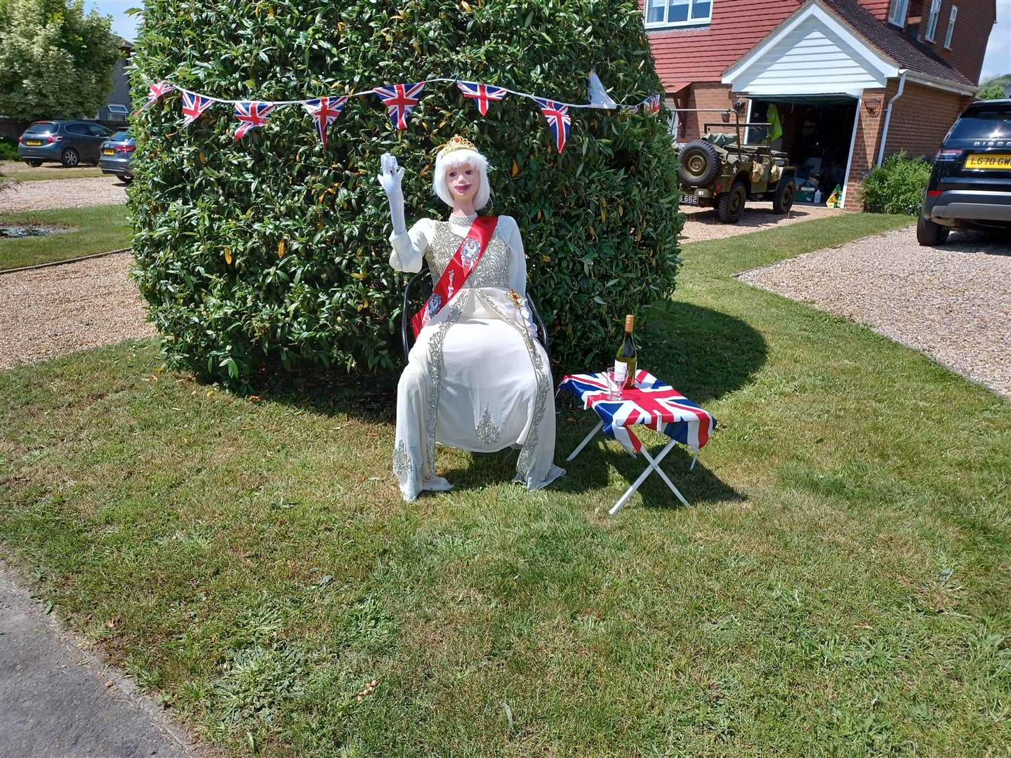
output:
<path id="1" fill-rule="evenodd" d="M 808 253 L 739 278 L 865 323 L 1011 396 L 1011 240 L 913 226 Z"/>

